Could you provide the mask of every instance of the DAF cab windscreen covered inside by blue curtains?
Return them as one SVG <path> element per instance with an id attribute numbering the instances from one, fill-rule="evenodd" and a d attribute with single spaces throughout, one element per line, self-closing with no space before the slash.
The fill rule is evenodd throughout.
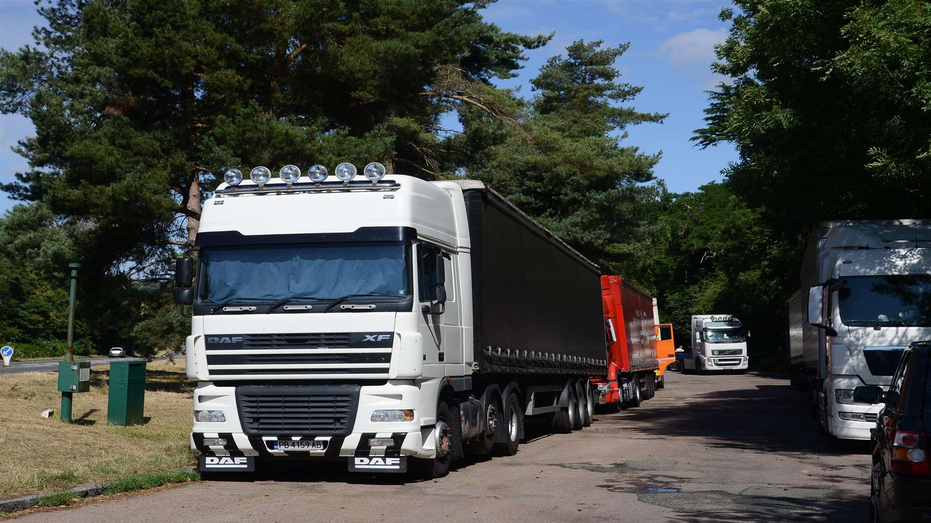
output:
<path id="1" fill-rule="evenodd" d="M 348 294 L 407 298 L 411 295 L 409 252 L 405 242 L 204 248 L 200 252 L 199 301 L 336 298 Z"/>

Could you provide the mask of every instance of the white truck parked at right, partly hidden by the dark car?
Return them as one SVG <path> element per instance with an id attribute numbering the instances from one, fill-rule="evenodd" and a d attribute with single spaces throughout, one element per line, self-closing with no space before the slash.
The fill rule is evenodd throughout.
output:
<path id="1" fill-rule="evenodd" d="M 787 303 L 791 379 L 832 438 L 870 439 L 882 405 L 854 401 L 887 388 L 909 342 L 931 339 L 931 223 L 826 221 Z"/>

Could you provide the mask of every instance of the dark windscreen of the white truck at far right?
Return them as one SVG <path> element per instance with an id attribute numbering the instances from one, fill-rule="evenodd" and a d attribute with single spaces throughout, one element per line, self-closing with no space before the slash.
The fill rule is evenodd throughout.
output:
<path id="1" fill-rule="evenodd" d="M 835 284 L 851 327 L 931 327 L 931 275 L 847 276 Z"/>

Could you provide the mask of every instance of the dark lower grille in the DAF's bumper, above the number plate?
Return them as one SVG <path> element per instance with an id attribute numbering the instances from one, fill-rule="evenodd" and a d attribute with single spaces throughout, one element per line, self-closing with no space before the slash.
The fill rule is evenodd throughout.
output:
<path id="1" fill-rule="evenodd" d="M 250 436 L 340 436 L 352 430 L 358 386 L 236 387 L 242 430 Z"/>

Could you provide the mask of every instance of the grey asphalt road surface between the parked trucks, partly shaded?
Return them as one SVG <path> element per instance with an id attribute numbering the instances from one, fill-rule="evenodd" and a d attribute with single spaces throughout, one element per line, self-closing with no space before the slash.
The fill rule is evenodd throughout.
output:
<path id="1" fill-rule="evenodd" d="M 639 409 L 437 481 L 298 464 L 20 522 L 763 522 L 869 520 L 869 456 L 829 449 L 789 382 L 683 376 Z"/>

